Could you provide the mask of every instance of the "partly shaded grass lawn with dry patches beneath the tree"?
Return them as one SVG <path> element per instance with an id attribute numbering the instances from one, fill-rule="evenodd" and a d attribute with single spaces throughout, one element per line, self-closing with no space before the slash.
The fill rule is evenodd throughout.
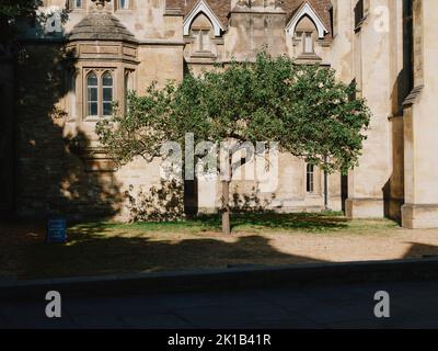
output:
<path id="1" fill-rule="evenodd" d="M 348 220 L 336 213 L 233 215 L 177 223 L 72 225 L 66 245 L 45 244 L 35 225 L 0 227 L 0 278 L 36 279 L 400 259 L 438 254 L 438 230 L 405 230 L 391 220 Z"/>

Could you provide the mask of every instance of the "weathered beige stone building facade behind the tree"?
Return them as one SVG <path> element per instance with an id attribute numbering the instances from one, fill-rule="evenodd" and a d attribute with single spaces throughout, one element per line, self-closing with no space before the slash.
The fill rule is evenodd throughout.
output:
<path id="1" fill-rule="evenodd" d="M 347 177 L 281 155 L 275 192 L 261 195 L 257 184 L 237 180 L 235 197 L 438 227 L 437 10 L 435 0 L 45 0 L 49 20 L 26 26 L 18 104 L 5 114 L 15 140 L 14 171 L 2 174 L 13 195 L 3 206 L 20 216 L 128 218 L 128 199 L 159 186 L 160 160 L 114 167 L 94 132 L 112 102 L 125 109 L 130 90 L 253 60 L 266 47 L 355 81 L 371 126 Z M 215 211 L 219 183 L 199 179 L 196 189 L 197 211 Z"/>

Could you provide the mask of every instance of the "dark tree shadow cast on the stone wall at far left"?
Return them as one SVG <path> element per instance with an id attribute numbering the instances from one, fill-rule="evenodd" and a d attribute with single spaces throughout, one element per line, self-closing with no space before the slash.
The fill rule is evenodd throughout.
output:
<path id="1" fill-rule="evenodd" d="M 114 173 L 90 168 L 70 147 L 62 99 L 69 92 L 68 75 L 74 58 L 61 44 L 27 43 L 18 64 L 16 98 L 16 214 L 45 219 L 113 216 L 120 210 L 120 191 Z M 79 132 L 82 147 L 91 140 Z M 92 170 L 91 170 L 92 169 Z"/>

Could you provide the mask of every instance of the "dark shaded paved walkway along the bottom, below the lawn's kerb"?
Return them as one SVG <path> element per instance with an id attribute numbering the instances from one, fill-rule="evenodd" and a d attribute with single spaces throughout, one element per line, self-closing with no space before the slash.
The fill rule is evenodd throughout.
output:
<path id="1" fill-rule="evenodd" d="M 391 317 L 373 315 L 374 293 L 391 296 Z M 132 295 L 0 303 L 1 328 L 438 328 L 438 280 L 276 287 L 239 292 Z"/>

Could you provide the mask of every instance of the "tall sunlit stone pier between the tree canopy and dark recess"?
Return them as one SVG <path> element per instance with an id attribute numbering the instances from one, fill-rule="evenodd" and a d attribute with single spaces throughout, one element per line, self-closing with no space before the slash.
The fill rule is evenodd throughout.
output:
<path id="1" fill-rule="evenodd" d="M 338 77 L 345 82 L 356 81 L 372 112 L 359 167 L 348 174 L 347 214 L 351 217 L 383 217 L 384 189 L 392 172 L 388 117 L 392 112 L 390 100 L 395 82 L 391 72 L 391 48 L 396 43 L 391 36 L 395 29 L 389 23 L 388 29 L 379 30 L 377 23 L 382 20 L 379 9 L 387 9 L 385 14 L 394 18 L 397 18 L 397 11 L 393 1 L 371 0 L 365 20 L 356 27 L 356 3 L 335 3 L 337 31 L 332 50 Z"/>

